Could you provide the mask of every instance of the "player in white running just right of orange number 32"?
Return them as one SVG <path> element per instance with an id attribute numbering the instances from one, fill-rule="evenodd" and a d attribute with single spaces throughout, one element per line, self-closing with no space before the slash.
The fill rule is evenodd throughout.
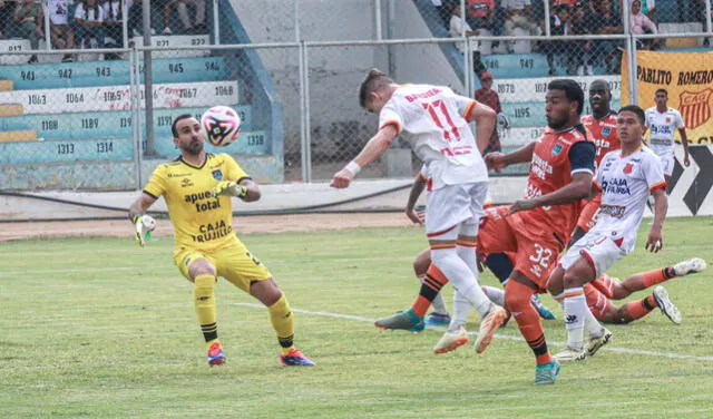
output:
<path id="1" fill-rule="evenodd" d="M 646 250 L 656 253 L 663 247 L 666 181 L 661 159 L 644 146 L 645 119 L 638 106 L 619 110 L 616 126 L 622 148 L 604 156 L 594 183 L 602 193 L 599 220 L 567 251 L 549 277 L 548 291 L 556 300 L 564 300 L 567 329 L 567 348 L 555 355 L 558 360 L 583 360 L 611 340 L 612 333 L 587 306 L 584 285 L 634 250 L 649 193 L 654 196 L 654 222 Z M 586 348 L 585 328 L 589 335 Z"/>

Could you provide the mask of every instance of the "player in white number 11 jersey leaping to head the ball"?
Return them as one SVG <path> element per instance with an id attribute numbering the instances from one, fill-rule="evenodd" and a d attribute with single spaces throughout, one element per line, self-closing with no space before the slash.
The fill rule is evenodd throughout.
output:
<path id="1" fill-rule="evenodd" d="M 397 85 L 372 69 L 361 84 L 360 105 L 379 114 L 379 129 L 361 153 L 332 178 L 331 186 L 348 187 L 359 170 L 374 162 L 398 136 L 411 143 L 428 167 L 426 233 L 432 263 L 413 305 L 381 319 L 383 329 L 423 330 L 423 315 L 449 281 L 480 314 L 476 352 L 486 350 L 507 313 L 492 304 L 478 283 L 476 237 L 488 191 L 488 170 L 481 157 L 495 128 L 489 107 L 450 88 L 431 85 Z M 469 121 L 476 123 L 477 140 Z"/>

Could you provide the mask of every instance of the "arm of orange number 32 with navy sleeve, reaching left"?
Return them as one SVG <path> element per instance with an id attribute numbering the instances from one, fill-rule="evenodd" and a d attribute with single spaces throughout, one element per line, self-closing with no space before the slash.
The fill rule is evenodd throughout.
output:
<path id="1" fill-rule="evenodd" d="M 564 205 L 589 196 L 592 178 L 594 176 L 594 156 L 596 149 L 594 143 L 579 142 L 569 149 L 569 165 L 572 168 L 572 182 L 553 191 L 530 199 L 518 199 L 510 206 L 508 214 L 518 211 L 533 210 L 540 206 Z"/>

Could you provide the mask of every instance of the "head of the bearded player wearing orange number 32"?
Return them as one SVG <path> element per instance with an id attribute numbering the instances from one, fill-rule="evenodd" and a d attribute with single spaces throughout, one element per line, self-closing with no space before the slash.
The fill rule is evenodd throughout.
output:
<path id="1" fill-rule="evenodd" d="M 570 79 L 557 79 L 547 85 L 545 116 L 553 129 L 572 127 L 579 121 L 584 109 L 584 90 Z"/>

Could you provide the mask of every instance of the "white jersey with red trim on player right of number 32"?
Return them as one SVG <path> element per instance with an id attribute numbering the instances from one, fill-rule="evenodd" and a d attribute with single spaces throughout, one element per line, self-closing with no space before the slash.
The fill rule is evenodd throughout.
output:
<path id="1" fill-rule="evenodd" d="M 619 247 L 633 249 L 649 193 L 666 187 L 661 159 L 644 145 L 626 157 L 621 149 L 609 152 L 594 186 L 602 192 L 602 205 L 593 230 L 609 232 Z"/>

